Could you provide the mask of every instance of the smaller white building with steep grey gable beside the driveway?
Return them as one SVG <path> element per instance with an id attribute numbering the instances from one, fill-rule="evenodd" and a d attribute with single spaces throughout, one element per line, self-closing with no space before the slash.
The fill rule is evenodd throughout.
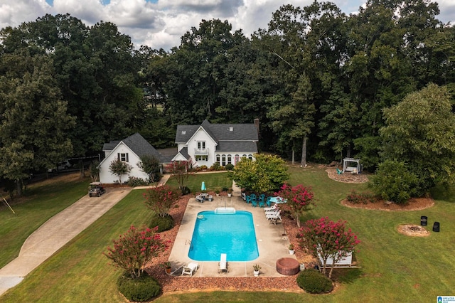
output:
<path id="1" fill-rule="evenodd" d="M 122 182 L 127 181 L 129 176 L 144 180 L 149 179 L 149 176 L 144 171 L 141 171 L 137 165 L 141 161 L 140 157 L 145 154 L 155 156 L 162 163 L 161 154 L 139 133 L 120 141 L 105 143 L 102 151 L 105 152 L 105 159 L 100 163 L 100 182 L 103 184 L 113 184 L 119 180 L 116 175 L 109 171 L 109 166 L 115 159 L 120 159 L 132 166 L 129 174 L 122 176 Z"/>

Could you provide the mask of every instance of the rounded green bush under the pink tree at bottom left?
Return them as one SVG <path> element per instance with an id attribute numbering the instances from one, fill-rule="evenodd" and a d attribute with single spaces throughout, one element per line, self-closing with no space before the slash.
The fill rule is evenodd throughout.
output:
<path id="1" fill-rule="evenodd" d="M 141 277 L 133 279 L 127 273 L 117 280 L 117 288 L 129 301 L 144 302 L 156 297 L 161 292 L 158 281 L 143 272 Z"/>

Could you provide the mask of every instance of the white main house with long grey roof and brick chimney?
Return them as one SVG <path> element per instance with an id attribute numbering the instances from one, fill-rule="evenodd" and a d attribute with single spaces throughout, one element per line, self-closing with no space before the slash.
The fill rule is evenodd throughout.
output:
<path id="1" fill-rule="evenodd" d="M 178 153 L 172 161 L 193 161 L 193 166 L 237 164 L 242 157 L 252 159 L 257 153 L 259 120 L 251 124 L 178 125 Z"/>

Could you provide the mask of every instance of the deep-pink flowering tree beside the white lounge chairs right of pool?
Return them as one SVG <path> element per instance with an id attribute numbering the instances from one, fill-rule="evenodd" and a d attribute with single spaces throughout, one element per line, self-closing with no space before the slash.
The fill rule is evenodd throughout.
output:
<path id="1" fill-rule="evenodd" d="M 311 188 L 301 184 L 291 187 L 285 183 L 275 195 L 287 199 L 286 204 L 291 211 L 291 216 L 300 227 L 300 216 L 304 211 L 308 211 L 311 205 L 314 205 L 314 193 L 311 192 Z"/>

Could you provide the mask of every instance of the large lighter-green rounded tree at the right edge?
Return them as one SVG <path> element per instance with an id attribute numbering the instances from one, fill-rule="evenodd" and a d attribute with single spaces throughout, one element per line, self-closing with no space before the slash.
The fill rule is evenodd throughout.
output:
<path id="1" fill-rule="evenodd" d="M 455 115 L 446 87 L 430 84 L 384 110 L 383 159 L 405 162 L 419 193 L 455 183 Z"/>

